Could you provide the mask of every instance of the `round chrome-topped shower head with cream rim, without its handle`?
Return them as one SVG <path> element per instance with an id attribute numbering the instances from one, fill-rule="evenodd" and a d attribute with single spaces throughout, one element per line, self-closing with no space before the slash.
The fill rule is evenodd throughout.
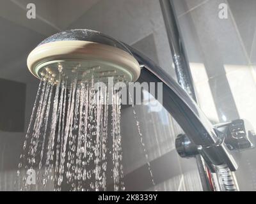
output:
<path id="1" fill-rule="evenodd" d="M 37 78 L 58 82 L 59 73 L 78 80 L 135 82 L 140 64 L 120 41 L 97 31 L 76 29 L 54 34 L 28 56 L 29 71 Z M 46 78 L 45 78 L 46 79 Z"/>

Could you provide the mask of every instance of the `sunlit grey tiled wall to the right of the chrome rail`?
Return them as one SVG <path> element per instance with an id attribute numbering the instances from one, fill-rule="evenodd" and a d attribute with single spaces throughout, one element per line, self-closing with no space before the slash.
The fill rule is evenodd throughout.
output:
<path id="1" fill-rule="evenodd" d="M 173 2 L 202 110 L 212 122 L 244 118 L 256 129 L 256 1 Z M 221 3 L 228 6 L 227 19 L 219 18 Z M 240 153 L 241 190 L 255 190 L 255 153 Z"/>

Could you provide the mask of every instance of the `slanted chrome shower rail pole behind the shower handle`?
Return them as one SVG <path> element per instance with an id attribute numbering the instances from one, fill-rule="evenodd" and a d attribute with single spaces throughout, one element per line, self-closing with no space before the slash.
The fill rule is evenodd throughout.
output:
<path id="1" fill-rule="evenodd" d="M 170 0 L 159 0 L 159 3 L 163 14 L 170 50 L 172 52 L 172 60 L 177 82 L 197 103 L 193 78 L 191 76 L 188 57 L 184 48 L 184 41 L 182 40 L 182 35 L 180 33 L 173 2 Z M 209 170 L 207 169 L 202 156 L 196 155 L 195 158 L 204 191 L 212 191 L 214 187 L 212 186 L 211 173 L 208 172 Z"/>

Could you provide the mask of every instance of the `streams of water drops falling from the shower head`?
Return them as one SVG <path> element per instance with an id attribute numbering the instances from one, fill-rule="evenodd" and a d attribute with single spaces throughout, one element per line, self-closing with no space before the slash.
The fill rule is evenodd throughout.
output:
<path id="1" fill-rule="evenodd" d="M 54 191 L 106 191 L 107 170 L 112 168 L 109 184 L 124 191 L 119 92 L 94 89 L 93 76 L 78 80 L 75 71 L 69 78 L 59 71 L 42 73 L 17 176 L 34 170 L 36 189 L 50 182 Z M 108 164 L 108 157 L 113 164 Z M 26 177 L 21 186 L 20 190 L 31 190 Z"/>

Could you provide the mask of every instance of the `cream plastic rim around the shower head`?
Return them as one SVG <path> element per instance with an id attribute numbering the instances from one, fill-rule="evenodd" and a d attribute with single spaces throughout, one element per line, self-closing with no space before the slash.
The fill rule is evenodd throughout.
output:
<path id="1" fill-rule="evenodd" d="M 129 82 L 140 77 L 140 64 L 129 53 L 120 48 L 91 41 L 53 41 L 36 47 L 28 55 L 28 69 L 40 78 L 39 72 L 46 65 L 56 61 L 93 61 L 108 64 L 129 76 Z"/>

